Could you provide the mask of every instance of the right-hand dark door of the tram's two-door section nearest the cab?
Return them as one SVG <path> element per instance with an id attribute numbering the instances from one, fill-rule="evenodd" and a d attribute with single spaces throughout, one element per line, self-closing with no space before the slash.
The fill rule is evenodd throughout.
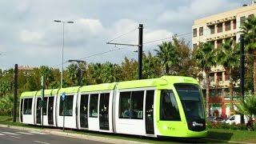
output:
<path id="1" fill-rule="evenodd" d="M 109 100 L 110 100 L 110 93 L 105 93 L 100 95 L 100 100 L 99 100 L 99 129 L 100 130 L 110 130 Z"/>

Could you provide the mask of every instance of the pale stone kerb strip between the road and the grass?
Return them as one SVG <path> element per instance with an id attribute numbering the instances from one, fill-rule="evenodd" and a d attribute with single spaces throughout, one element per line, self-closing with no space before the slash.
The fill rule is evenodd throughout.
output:
<path id="1" fill-rule="evenodd" d="M 40 130 L 40 129 L 34 129 L 29 127 L 22 127 L 22 126 L 9 126 L 9 125 L 2 125 L 0 124 L 0 127 L 4 128 L 11 128 L 16 130 L 33 130 L 38 132 L 44 132 L 46 134 L 53 134 L 58 136 L 65 136 L 70 138 L 81 138 L 86 139 L 90 141 L 97 141 L 97 142 L 107 142 L 107 143 L 131 143 L 131 144 L 144 144 L 146 142 L 136 142 L 136 141 L 129 141 L 129 140 L 123 140 L 123 139 L 117 139 L 117 138 L 102 138 L 98 136 L 92 136 L 92 135 L 85 135 L 85 134 L 73 134 L 73 133 L 66 133 L 61 131 L 54 131 L 54 130 Z"/>

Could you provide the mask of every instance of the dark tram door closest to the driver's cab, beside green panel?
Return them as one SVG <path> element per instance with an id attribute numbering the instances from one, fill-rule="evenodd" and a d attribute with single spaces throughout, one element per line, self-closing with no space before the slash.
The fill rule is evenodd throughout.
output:
<path id="1" fill-rule="evenodd" d="M 154 90 L 146 90 L 146 134 L 154 134 Z"/>

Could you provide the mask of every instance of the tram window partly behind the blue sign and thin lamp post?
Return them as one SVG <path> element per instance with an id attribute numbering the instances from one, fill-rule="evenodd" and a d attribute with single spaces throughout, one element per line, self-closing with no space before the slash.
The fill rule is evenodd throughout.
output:
<path id="1" fill-rule="evenodd" d="M 73 115 L 73 99 L 74 99 L 74 95 L 66 95 L 66 105 L 65 105 L 65 116 L 72 116 Z M 60 98 L 60 102 L 59 102 L 59 115 L 63 116 L 63 104 L 64 101 L 62 101 L 62 98 Z"/>

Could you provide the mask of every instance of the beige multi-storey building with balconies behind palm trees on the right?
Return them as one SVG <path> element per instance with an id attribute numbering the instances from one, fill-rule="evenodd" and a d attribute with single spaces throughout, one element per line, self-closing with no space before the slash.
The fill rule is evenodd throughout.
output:
<path id="1" fill-rule="evenodd" d="M 222 45 L 226 39 L 233 40 L 234 44 L 239 42 L 240 27 L 246 18 L 256 14 L 256 2 L 243 5 L 235 10 L 214 14 L 206 18 L 196 19 L 192 26 L 193 48 L 203 42 L 211 42 L 215 48 Z M 202 82 L 202 86 L 204 82 Z M 230 115 L 229 76 L 222 66 L 211 68 L 210 73 L 210 110 L 211 115 Z M 234 100 L 238 94 L 238 85 L 234 90 Z"/>

